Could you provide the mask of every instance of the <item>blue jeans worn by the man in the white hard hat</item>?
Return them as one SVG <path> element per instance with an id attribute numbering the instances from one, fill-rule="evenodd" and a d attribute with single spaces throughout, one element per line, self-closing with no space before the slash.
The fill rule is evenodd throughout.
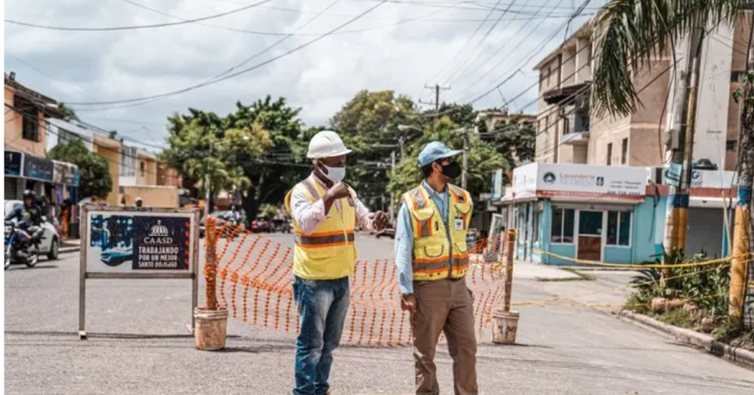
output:
<path id="1" fill-rule="evenodd" d="M 332 351 L 340 344 L 350 294 L 348 277 L 337 280 L 294 278 L 294 299 L 301 320 L 296 339 L 294 395 L 329 391 Z"/>

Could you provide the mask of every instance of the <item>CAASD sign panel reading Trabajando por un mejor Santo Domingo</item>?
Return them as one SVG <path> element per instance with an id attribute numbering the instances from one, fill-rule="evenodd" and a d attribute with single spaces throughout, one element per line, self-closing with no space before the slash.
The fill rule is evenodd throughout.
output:
<path id="1" fill-rule="evenodd" d="M 88 272 L 189 271 L 193 214 L 90 212 Z"/>

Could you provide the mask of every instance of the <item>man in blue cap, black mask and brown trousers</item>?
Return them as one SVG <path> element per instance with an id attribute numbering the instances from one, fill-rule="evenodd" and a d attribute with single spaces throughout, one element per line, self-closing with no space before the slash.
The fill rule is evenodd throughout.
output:
<path id="1" fill-rule="evenodd" d="M 472 202 L 469 192 L 450 182 L 460 175 L 453 151 L 441 142 L 419 154 L 421 185 L 403 195 L 396 229 L 400 307 L 411 312 L 416 365 L 416 395 L 440 393 L 434 366 L 437 340 L 444 332 L 453 358 L 456 395 L 475 395 L 477 338 L 469 270 Z"/>

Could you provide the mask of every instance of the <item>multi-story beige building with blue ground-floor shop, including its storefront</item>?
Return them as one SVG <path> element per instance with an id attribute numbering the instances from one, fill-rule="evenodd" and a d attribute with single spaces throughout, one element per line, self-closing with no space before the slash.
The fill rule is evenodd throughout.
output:
<path id="1" fill-rule="evenodd" d="M 696 48 L 695 166 L 685 248 L 710 257 L 729 253 L 739 128 L 732 92 L 745 75 L 750 16 L 708 29 L 701 47 L 678 40 L 675 53 L 636 70 L 639 102 L 627 116 L 590 108 L 592 22 L 539 62 L 537 163 L 513 171 L 513 187 L 502 199 L 507 224 L 519 230 L 520 259 L 638 263 L 662 251 L 669 184 L 675 182 L 665 164 L 686 123 L 689 52 Z"/>

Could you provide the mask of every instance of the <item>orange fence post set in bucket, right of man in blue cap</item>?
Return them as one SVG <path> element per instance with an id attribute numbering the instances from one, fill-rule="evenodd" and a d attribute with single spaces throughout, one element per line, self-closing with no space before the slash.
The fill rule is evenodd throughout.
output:
<path id="1" fill-rule="evenodd" d="M 514 344 L 518 329 L 519 313 L 511 312 L 511 293 L 513 290 L 513 257 L 516 246 L 516 230 L 505 232 L 503 245 L 503 262 L 505 265 L 505 294 L 503 309 L 493 314 L 494 327 L 492 341 L 497 344 Z"/>

